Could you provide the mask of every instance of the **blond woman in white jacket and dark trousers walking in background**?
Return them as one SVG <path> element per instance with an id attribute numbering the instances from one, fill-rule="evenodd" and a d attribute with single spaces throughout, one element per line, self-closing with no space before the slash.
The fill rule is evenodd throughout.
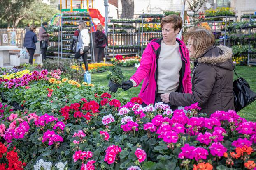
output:
<path id="1" fill-rule="evenodd" d="M 84 61 L 85 71 L 88 71 L 88 62 L 87 62 L 87 56 L 88 51 L 90 49 L 89 43 L 90 43 L 90 36 L 88 29 L 86 28 L 86 23 L 84 21 L 79 21 L 79 25 L 77 26 L 80 30 L 79 36 L 78 36 L 78 45 L 79 50 L 75 54 L 74 58 L 79 59 L 81 56 Z"/>

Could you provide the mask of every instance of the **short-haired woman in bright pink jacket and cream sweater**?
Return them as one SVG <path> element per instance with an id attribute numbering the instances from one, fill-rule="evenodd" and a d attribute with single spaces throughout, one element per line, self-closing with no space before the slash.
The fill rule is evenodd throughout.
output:
<path id="1" fill-rule="evenodd" d="M 189 52 L 176 36 L 182 29 L 182 18 L 169 15 L 161 20 L 163 37 L 152 40 L 144 50 L 140 67 L 120 88 L 137 87 L 144 79 L 139 97 L 144 106 L 161 102 L 161 94 L 173 91 L 192 93 Z M 170 103 L 166 103 L 170 105 Z M 171 106 L 177 109 L 177 106 Z"/>

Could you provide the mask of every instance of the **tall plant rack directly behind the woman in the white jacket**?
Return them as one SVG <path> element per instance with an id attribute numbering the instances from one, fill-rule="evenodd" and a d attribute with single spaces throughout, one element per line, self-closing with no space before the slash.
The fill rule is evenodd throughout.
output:
<path id="1" fill-rule="evenodd" d="M 63 57 L 63 54 L 65 54 L 63 50 L 71 49 L 71 43 L 73 41 L 74 34 L 70 34 L 70 32 L 74 32 L 75 29 L 77 29 L 77 23 L 79 23 L 79 21 L 90 22 L 90 26 L 86 24 L 86 27 L 91 30 L 92 21 L 89 15 L 83 14 L 82 16 L 72 16 L 72 15 L 69 16 L 69 15 L 63 14 L 63 16 L 61 17 L 61 59 L 65 58 Z M 65 23 L 70 23 L 70 25 L 65 25 Z M 90 41 L 92 42 L 92 34 L 90 34 Z M 91 52 L 93 53 L 93 55 L 90 54 Z M 68 54 L 72 54 L 72 53 L 68 53 Z M 93 56 L 94 56 L 93 45 L 91 45 L 90 52 L 88 53 L 88 60 L 92 60 Z"/>

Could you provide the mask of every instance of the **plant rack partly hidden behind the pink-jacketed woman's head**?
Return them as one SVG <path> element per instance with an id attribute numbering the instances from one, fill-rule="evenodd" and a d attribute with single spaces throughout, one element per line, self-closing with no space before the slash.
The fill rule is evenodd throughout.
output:
<path id="1" fill-rule="evenodd" d="M 140 15 L 140 20 L 141 20 L 141 24 L 142 24 L 142 30 L 141 30 L 141 36 L 140 36 L 140 23 L 139 23 L 139 29 L 138 29 L 138 44 L 140 44 L 141 45 L 141 49 L 140 49 L 140 51 L 139 51 L 139 53 L 141 52 L 141 56 L 142 56 L 142 53 L 143 53 L 143 46 L 144 46 L 144 42 L 145 43 L 147 43 L 148 42 L 148 40 L 147 41 L 144 41 L 144 39 L 143 39 L 143 33 L 144 33 L 144 31 L 143 31 L 143 24 L 149 24 L 149 23 L 154 23 L 154 24 L 160 24 L 160 22 L 147 22 L 147 21 L 144 21 L 144 18 L 163 18 L 164 17 L 164 15 L 163 14 L 142 14 L 142 15 Z M 147 32 L 147 33 L 155 33 L 155 32 Z M 159 32 L 157 32 L 157 33 L 159 33 Z"/>

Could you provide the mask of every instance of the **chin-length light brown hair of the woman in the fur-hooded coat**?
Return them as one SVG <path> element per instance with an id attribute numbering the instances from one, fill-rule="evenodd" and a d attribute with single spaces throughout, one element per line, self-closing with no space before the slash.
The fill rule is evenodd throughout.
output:
<path id="1" fill-rule="evenodd" d="M 186 42 L 190 39 L 190 43 L 193 45 L 195 51 L 190 57 L 195 59 L 205 54 L 207 48 L 215 43 L 214 34 L 204 27 L 192 27 L 187 29 L 184 38 Z"/>

